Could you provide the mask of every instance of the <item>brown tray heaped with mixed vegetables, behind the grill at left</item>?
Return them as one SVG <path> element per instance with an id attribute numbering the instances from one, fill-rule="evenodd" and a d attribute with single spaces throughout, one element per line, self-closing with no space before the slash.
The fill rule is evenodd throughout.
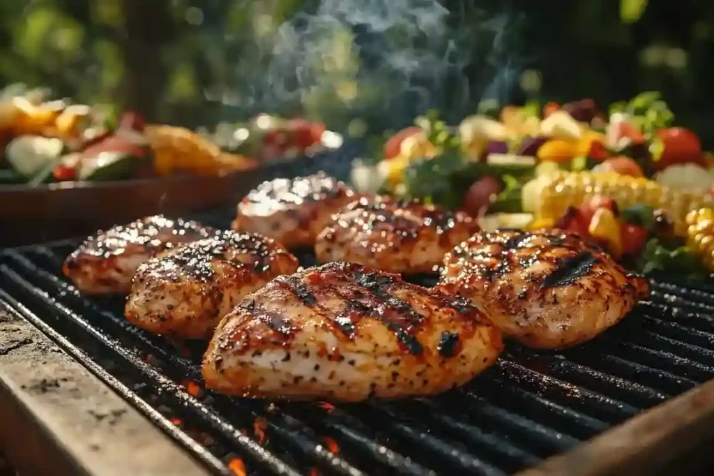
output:
<path id="1" fill-rule="evenodd" d="M 131 112 L 110 124 L 100 107 L 48 94 L 12 86 L 0 95 L 2 245 L 233 204 L 269 173 L 269 154 L 280 152 L 283 163 L 342 145 L 319 124 L 258 116 L 231 129 L 242 142 L 229 150 L 226 127 L 221 137 L 144 124 Z"/>

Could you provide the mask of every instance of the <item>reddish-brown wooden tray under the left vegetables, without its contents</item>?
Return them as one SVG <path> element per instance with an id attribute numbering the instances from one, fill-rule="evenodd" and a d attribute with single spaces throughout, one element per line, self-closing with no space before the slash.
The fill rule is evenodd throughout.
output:
<path id="1" fill-rule="evenodd" d="M 266 169 L 223 177 L 167 177 L 117 182 L 65 182 L 0 187 L 0 246 L 44 242 L 136 217 L 200 212 L 237 204 L 266 178 Z"/>

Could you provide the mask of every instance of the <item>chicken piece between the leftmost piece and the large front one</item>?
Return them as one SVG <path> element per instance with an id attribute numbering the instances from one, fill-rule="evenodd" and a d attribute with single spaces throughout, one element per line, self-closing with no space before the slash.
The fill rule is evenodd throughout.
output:
<path id="1" fill-rule="evenodd" d="M 208 337 L 246 294 L 296 269 L 298 259 L 272 239 L 223 232 L 141 264 L 124 315 L 157 334 Z"/>

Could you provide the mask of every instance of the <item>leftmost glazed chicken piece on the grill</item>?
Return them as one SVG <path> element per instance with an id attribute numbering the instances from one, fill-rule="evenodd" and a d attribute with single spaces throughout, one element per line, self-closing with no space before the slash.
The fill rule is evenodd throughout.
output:
<path id="1" fill-rule="evenodd" d="M 211 236 L 213 230 L 163 215 L 96 232 L 64 261 L 62 270 L 85 294 L 129 292 L 139 264 L 179 243 Z"/>

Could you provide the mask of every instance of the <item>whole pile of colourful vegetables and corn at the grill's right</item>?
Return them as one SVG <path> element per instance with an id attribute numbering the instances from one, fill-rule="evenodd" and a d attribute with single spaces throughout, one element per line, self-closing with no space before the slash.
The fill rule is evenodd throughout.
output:
<path id="1" fill-rule="evenodd" d="M 714 161 L 656 92 L 612 104 L 484 103 L 456 127 L 436 113 L 389 137 L 364 191 L 441 204 L 484 229 L 560 228 L 645 274 L 714 270 Z"/>

